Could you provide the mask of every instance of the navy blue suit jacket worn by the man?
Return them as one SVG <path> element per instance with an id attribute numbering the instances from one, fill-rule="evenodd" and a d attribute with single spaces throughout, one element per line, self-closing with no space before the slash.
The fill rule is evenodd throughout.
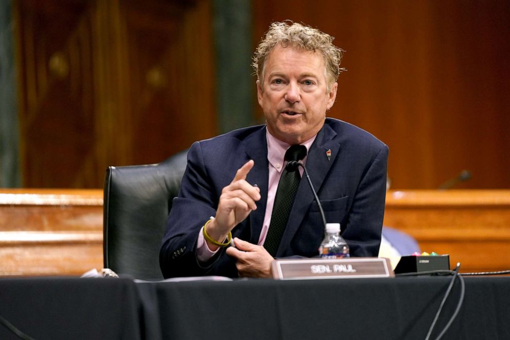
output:
<path id="1" fill-rule="evenodd" d="M 331 150 L 330 159 L 326 151 Z M 235 226 L 233 237 L 257 244 L 264 220 L 268 160 L 266 127 L 235 130 L 195 142 L 179 196 L 174 199 L 160 249 L 164 277 L 238 276 L 235 260 L 221 248 L 209 263 L 198 263 L 198 232 L 214 216 L 222 189 L 249 159 L 246 178 L 261 189 L 257 210 Z M 341 120 L 326 118 L 308 151 L 306 169 L 317 190 L 327 222 L 341 223 L 351 256 L 377 256 L 386 195 L 388 147 L 373 135 Z M 305 178 L 300 182 L 276 257 L 318 255 L 324 225 Z"/>

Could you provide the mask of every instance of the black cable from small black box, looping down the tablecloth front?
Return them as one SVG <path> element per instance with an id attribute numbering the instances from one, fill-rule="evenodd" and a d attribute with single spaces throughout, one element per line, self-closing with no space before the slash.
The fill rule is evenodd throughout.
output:
<path id="1" fill-rule="evenodd" d="M 430 337 L 430 334 L 432 333 L 432 330 L 436 324 L 436 322 L 438 321 L 438 318 L 439 318 L 439 315 L 441 314 L 441 311 L 443 310 L 443 306 L 446 302 L 446 299 L 448 298 L 448 296 L 450 295 L 450 292 L 451 292 L 451 289 L 453 287 L 453 283 L 455 282 L 456 279 L 459 280 L 460 282 L 460 285 L 461 285 L 461 293 L 460 293 L 460 296 L 459 296 L 459 301 L 457 302 L 457 307 L 455 309 L 455 311 L 453 311 L 450 319 L 448 320 L 448 323 L 446 324 L 446 326 L 443 328 L 443 330 L 441 331 L 441 333 L 438 335 L 438 337 L 435 338 L 435 340 L 439 340 L 441 339 L 441 337 L 446 333 L 446 331 L 448 330 L 448 328 L 451 326 L 451 324 L 453 323 L 453 320 L 457 317 L 457 314 L 459 314 L 459 311 L 462 307 L 462 303 L 464 302 L 464 293 L 465 293 L 465 283 L 464 283 L 464 278 L 462 277 L 461 274 L 459 274 L 459 267 L 460 267 L 460 263 L 457 263 L 457 267 L 455 270 L 451 271 L 451 270 L 437 270 L 437 271 L 427 271 L 427 272 L 418 272 L 418 273 L 402 273 L 402 274 L 396 274 L 395 276 L 418 276 L 418 275 L 453 275 L 453 277 L 451 278 L 450 280 L 450 284 L 448 285 L 448 289 L 446 290 L 446 293 L 443 297 L 443 300 L 441 301 L 441 305 L 438 309 L 438 311 L 436 312 L 435 316 L 434 316 L 434 320 L 432 321 L 432 324 L 430 325 L 430 328 L 429 328 L 429 331 L 427 333 L 427 337 L 425 338 L 425 340 L 428 340 L 429 337 Z"/>

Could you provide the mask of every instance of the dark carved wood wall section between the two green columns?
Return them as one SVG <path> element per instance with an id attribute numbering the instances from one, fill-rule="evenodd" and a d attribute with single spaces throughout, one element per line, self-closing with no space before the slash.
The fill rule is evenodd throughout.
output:
<path id="1" fill-rule="evenodd" d="M 209 1 L 14 3 L 24 187 L 100 188 L 216 133 Z"/>

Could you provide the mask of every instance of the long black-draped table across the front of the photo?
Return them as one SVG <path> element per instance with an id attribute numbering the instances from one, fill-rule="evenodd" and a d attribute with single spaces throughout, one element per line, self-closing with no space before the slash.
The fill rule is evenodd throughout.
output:
<path id="1" fill-rule="evenodd" d="M 0 279 L 0 316 L 37 339 L 424 339 L 449 281 Z M 510 277 L 465 283 L 443 338 L 510 339 Z M 459 293 L 456 283 L 432 339 Z M 0 325 L 0 339 L 10 338 Z"/>

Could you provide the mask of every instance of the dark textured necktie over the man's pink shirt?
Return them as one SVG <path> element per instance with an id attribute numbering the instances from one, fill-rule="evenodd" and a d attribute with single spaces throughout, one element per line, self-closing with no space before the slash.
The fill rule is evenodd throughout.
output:
<path id="1" fill-rule="evenodd" d="M 306 156 L 306 147 L 303 145 L 293 145 L 285 152 L 285 160 L 287 162 L 301 160 L 304 156 Z M 266 248 L 272 257 L 275 257 L 280 246 L 290 209 L 298 191 L 299 181 L 301 180 L 298 168 L 296 164 L 287 163 L 287 166 L 282 171 L 280 182 L 278 182 L 275 203 L 271 213 L 271 223 L 269 224 L 266 240 L 264 241 L 264 248 Z"/>

